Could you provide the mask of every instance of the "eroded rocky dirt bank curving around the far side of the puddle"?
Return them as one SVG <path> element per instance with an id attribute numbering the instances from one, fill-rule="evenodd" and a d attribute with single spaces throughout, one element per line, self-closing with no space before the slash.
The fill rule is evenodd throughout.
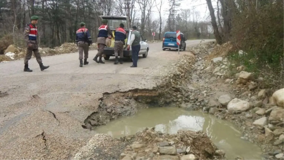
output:
<path id="1" fill-rule="evenodd" d="M 283 89 L 262 89 L 257 85 L 261 77 L 231 64 L 225 58 L 231 50 L 229 43 L 222 46 L 208 43 L 189 50 L 196 56 L 182 56 L 156 88 L 105 93 L 97 110 L 82 126 L 95 129 L 119 116 L 133 115 L 145 107 L 139 105 L 141 102 L 155 106 L 171 104 L 229 120 L 243 132 L 243 139 L 262 147 L 266 153 L 264 159 L 283 159 Z M 231 67 L 238 72 L 232 73 Z M 154 140 L 155 136 L 150 139 Z M 127 154 L 125 151 L 124 155 Z"/>

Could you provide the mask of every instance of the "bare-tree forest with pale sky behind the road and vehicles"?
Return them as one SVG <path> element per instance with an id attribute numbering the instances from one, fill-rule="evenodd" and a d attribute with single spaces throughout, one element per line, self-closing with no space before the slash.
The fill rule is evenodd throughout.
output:
<path id="1" fill-rule="evenodd" d="M 164 3 L 169 3 L 166 18 L 162 15 Z M 188 39 L 214 38 L 210 21 L 201 21 L 200 13 L 181 10 L 180 5 L 180 0 L 2 0 L 0 37 L 10 38 L 12 43 L 23 46 L 24 27 L 32 15 L 38 15 L 39 45 L 42 47 L 75 42 L 80 22 L 86 23 L 96 42 L 100 15 L 124 15 L 129 25 L 136 25 L 149 40 L 153 40 L 152 32 L 156 33 L 155 40 L 161 40 L 164 32 L 175 30 L 181 30 Z"/>

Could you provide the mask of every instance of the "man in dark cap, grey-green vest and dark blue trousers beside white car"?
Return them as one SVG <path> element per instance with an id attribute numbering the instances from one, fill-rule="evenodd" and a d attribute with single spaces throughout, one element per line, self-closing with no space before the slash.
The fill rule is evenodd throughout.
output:
<path id="1" fill-rule="evenodd" d="M 130 39 L 133 64 L 130 67 L 137 67 L 138 55 L 141 48 L 140 39 L 141 39 L 141 34 L 137 31 L 137 27 L 133 26 L 131 39 Z M 127 47 L 129 48 L 130 45 L 128 45 Z"/>

